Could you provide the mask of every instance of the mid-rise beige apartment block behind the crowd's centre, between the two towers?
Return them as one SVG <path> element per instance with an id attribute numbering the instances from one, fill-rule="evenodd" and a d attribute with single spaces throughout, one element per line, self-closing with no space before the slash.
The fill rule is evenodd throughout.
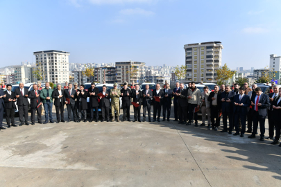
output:
<path id="1" fill-rule="evenodd" d="M 121 84 L 128 82 L 131 84 L 133 81 L 135 83 L 144 82 L 144 62 L 135 61 L 125 61 L 125 62 L 115 62 L 116 67 L 116 82 Z"/>

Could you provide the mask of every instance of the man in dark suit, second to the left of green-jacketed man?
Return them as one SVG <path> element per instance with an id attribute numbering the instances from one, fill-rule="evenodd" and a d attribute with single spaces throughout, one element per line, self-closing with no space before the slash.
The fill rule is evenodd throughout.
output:
<path id="1" fill-rule="evenodd" d="M 19 126 L 29 125 L 28 123 L 28 89 L 24 88 L 24 83 L 19 83 L 19 88 L 15 89 L 15 98 L 17 98 L 17 109 L 19 109 L 19 121 L 21 122 Z M 24 121 L 25 118 L 25 121 Z"/>

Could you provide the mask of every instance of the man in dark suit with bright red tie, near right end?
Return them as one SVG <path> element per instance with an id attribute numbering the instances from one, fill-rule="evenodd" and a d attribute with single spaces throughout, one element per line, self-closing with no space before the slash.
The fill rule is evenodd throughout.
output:
<path id="1" fill-rule="evenodd" d="M 265 132 L 265 119 L 266 119 L 266 109 L 271 105 L 269 103 L 269 96 L 266 94 L 262 94 L 262 89 L 257 87 L 255 89 L 255 98 L 252 97 L 250 100 L 250 105 L 254 107 L 253 109 L 253 132 L 248 138 L 255 138 L 255 134 L 257 132 L 257 126 L 259 123 L 260 129 L 260 141 L 264 141 L 264 132 Z"/>

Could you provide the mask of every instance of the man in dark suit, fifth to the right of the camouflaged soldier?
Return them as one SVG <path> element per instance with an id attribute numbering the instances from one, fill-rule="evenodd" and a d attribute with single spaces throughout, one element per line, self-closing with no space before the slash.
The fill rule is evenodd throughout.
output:
<path id="1" fill-rule="evenodd" d="M 167 110 L 167 121 L 170 121 L 171 115 L 171 98 L 173 98 L 173 91 L 170 89 L 170 84 L 167 83 L 164 91 L 164 98 L 163 98 L 163 121 L 166 120 L 166 110 Z M 178 116 L 178 114 L 176 115 Z M 175 118 L 176 118 L 175 116 Z"/>

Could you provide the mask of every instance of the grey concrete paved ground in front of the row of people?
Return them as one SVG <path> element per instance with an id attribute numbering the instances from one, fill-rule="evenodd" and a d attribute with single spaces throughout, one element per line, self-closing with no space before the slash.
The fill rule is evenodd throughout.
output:
<path id="1" fill-rule="evenodd" d="M 259 136 L 166 121 L 36 123 L 0 137 L 0 186 L 281 186 L 281 148 Z"/>

